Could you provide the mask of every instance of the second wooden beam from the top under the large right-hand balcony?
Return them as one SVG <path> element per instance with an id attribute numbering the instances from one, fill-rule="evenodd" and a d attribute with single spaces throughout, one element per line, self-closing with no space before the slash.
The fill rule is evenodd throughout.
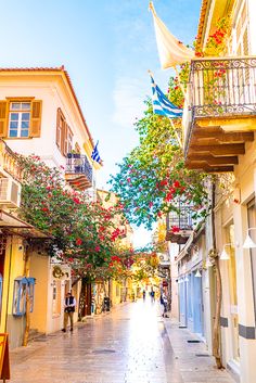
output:
<path id="1" fill-rule="evenodd" d="M 245 153 L 244 143 L 219 144 L 219 145 L 190 145 L 188 155 L 194 153 L 210 153 L 214 156 L 239 155 Z"/>

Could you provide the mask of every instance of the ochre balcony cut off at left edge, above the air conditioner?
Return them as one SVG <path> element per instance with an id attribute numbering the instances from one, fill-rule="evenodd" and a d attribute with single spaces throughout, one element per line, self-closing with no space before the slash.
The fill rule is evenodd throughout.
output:
<path id="1" fill-rule="evenodd" d="M 22 180 L 23 173 L 18 167 L 15 153 L 0 140 L 0 177 L 8 178 L 12 176 L 16 181 Z"/>

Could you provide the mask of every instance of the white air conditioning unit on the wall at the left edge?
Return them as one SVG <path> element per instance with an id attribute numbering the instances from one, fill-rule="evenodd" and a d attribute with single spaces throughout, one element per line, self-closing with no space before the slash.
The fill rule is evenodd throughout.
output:
<path id="1" fill-rule="evenodd" d="M 12 178 L 0 178 L 0 205 L 16 208 L 21 205 L 21 183 Z"/>

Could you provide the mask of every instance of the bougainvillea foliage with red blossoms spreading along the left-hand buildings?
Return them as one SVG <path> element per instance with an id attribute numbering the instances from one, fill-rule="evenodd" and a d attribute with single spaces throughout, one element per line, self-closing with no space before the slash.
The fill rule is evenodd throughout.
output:
<path id="1" fill-rule="evenodd" d="M 121 231 L 115 222 L 120 206 L 104 208 L 65 184 L 63 174 L 36 156 L 18 156 L 23 170 L 20 216 L 52 235 L 49 252 L 74 273 L 95 278 L 111 272 L 110 263 Z M 118 217 L 118 219 L 116 219 Z"/>

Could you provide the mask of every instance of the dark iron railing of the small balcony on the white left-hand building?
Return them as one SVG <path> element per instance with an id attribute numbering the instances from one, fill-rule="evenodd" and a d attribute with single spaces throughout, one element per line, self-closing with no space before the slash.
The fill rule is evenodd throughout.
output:
<path id="1" fill-rule="evenodd" d="M 85 154 L 68 153 L 66 161 L 66 175 L 74 180 L 77 177 L 86 177 L 89 184 L 92 183 L 92 166 Z"/>

